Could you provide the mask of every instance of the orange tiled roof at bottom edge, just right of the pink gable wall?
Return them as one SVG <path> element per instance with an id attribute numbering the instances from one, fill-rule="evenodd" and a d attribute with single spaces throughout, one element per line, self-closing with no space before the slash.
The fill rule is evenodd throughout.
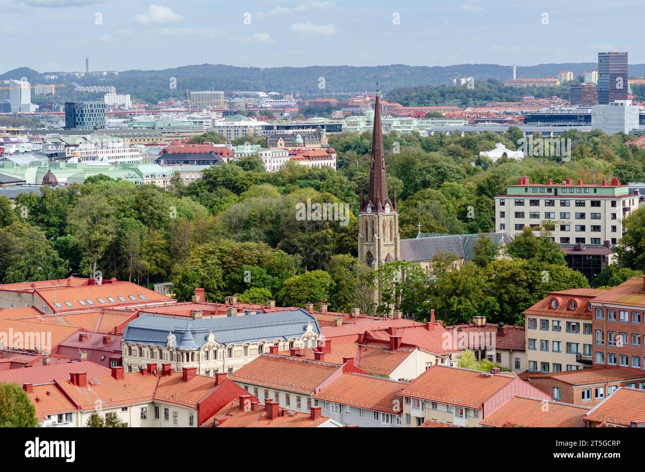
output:
<path id="1" fill-rule="evenodd" d="M 568 403 L 541 400 L 539 398 L 515 397 L 493 411 L 483 426 L 506 428 L 526 426 L 527 428 L 583 428 L 584 417 L 590 408 Z"/>

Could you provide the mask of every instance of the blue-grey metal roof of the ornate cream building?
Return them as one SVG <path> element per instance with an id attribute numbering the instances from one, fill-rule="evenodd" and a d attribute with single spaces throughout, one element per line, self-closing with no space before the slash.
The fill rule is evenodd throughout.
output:
<path id="1" fill-rule="evenodd" d="M 313 315 L 302 309 L 274 311 L 233 317 L 192 319 L 142 315 L 128 324 L 123 341 L 164 347 L 172 333 L 178 349 L 199 349 L 213 333 L 215 342 L 226 346 L 244 342 L 300 337 L 312 325 L 312 331 L 321 334 Z"/>

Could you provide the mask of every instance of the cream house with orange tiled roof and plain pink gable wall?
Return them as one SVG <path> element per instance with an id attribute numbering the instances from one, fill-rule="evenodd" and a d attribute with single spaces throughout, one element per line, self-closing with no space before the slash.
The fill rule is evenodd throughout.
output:
<path id="1" fill-rule="evenodd" d="M 408 428 L 417 428 L 426 421 L 478 427 L 518 395 L 551 400 L 512 372 L 495 368 L 487 373 L 446 366 L 432 366 L 399 395 L 403 426 Z"/>

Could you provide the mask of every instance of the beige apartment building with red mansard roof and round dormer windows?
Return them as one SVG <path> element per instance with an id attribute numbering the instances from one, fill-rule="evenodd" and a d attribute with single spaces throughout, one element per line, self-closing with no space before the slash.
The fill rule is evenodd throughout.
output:
<path id="1" fill-rule="evenodd" d="M 532 372 L 591 367 L 591 300 L 604 290 L 553 291 L 522 312 L 526 326 L 526 368 Z"/>

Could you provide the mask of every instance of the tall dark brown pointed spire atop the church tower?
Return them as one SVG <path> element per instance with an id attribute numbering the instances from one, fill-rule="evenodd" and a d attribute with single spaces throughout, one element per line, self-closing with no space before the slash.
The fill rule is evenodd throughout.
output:
<path id="1" fill-rule="evenodd" d="M 388 196 L 388 175 L 385 170 L 385 152 L 383 150 L 383 132 L 381 128 L 381 104 L 379 100 L 379 83 L 376 84 L 376 101 L 374 103 L 374 128 L 372 132 L 372 164 L 370 166 L 370 188 L 368 201 L 361 206 L 365 210 L 368 204 L 373 206 L 373 211 L 382 211 L 385 204 L 396 210 Z"/>

